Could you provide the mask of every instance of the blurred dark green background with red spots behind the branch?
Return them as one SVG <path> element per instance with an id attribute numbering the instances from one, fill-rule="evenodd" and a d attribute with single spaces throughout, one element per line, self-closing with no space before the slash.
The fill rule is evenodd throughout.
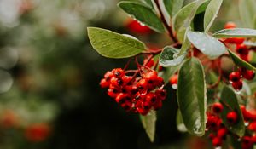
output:
<path id="1" fill-rule="evenodd" d="M 128 15 L 116 7 L 118 2 L 0 0 L 1 149 L 207 148 L 205 140 L 177 132 L 171 87 L 166 87 L 168 97 L 158 112 L 154 143 L 137 114 L 126 113 L 99 87 L 105 72 L 127 60 L 97 54 L 87 26 L 128 33 L 152 47 L 172 43 L 155 32 L 130 32 Z M 201 16 L 195 18 L 197 30 Z M 226 20 L 240 25 L 233 1 L 224 1 L 218 16 L 212 31 L 223 28 Z"/>

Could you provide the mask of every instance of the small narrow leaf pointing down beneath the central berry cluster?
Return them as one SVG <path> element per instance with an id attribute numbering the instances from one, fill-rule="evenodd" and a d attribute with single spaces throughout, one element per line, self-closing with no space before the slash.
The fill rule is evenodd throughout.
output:
<path id="1" fill-rule="evenodd" d="M 156 122 L 156 112 L 150 111 L 146 116 L 141 116 L 141 120 L 143 123 L 143 128 L 146 130 L 146 133 L 151 142 L 154 141 L 154 133 L 155 133 L 155 122 Z"/>

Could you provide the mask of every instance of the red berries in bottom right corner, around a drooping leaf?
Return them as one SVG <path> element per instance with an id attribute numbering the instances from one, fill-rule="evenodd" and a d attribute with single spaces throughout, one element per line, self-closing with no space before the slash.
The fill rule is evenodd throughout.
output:
<path id="1" fill-rule="evenodd" d="M 241 106 L 241 112 L 247 126 L 246 135 L 241 137 L 242 149 L 250 149 L 256 144 L 256 112 L 247 111 L 245 106 Z M 210 111 L 207 112 L 207 129 L 210 131 L 209 138 L 212 140 L 212 146 L 221 146 L 226 135 L 231 135 L 230 131 L 224 126 L 219 114 L 223 111 L 224 106 L 221 103 L 214 103 Z M 227 122 L 232 124 L 238 123 L 238 115 L 235 111 L 228 112 L 226 115 Z M 234 136 L 236 137 L 236 136 Z"/>

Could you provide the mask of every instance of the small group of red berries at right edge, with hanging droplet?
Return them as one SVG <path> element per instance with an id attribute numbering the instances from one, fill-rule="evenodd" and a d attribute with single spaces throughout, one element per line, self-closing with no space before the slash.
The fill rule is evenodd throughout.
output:
<path id="1" fill-rule="evenodd" d="M 253 70 L 240 68 L 238 71 L 230 73 L 230 83 L 234 89 L 240 90 L 242 88 L 242 78 L 252 80 L 253 77 L 255 77 L 255 72 Z"/>

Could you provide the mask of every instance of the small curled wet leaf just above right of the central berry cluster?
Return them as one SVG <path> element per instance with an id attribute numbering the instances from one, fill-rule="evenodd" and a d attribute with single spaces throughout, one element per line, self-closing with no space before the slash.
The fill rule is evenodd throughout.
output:
<path id="1" fill-rule="evenodd" d="M 160 66 L 168 67 L 168 66 L 177 66 L 181 64 L 185 59 L 186 54 L 177 56 L 178 53 L 179 53 L 179 49 L 175 49 L 171 46 L 167 46 L 166 48 L 164 48 L 160 54 L 160 59 L 159 59 Z"/>

